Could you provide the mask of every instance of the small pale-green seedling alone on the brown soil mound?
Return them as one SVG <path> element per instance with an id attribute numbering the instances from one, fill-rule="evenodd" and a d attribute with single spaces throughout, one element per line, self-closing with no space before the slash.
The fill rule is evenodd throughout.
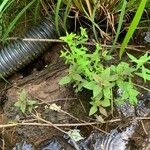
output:
<path id="1" fill-rule="evenodd" d="M 15 107 L 18 107 L 22 113 L 29 111 L 31 113 L 36 101 L 28 99 L 28 93 L 25 89 L 22 89 L 19 93 L 18 101 L 15 102 Z"/>

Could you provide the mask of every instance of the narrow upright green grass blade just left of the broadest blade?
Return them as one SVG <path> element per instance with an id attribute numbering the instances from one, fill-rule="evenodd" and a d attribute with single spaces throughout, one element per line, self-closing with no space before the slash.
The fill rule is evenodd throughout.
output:
<path id="1" fill-rule="evenodd" d="M 123 18 L 124 18 L 124 15 L 125 15 L 126 6 L 127 6 L 127 1 L 124 0 L 122 8 L 121 8 L 121 14 L 120 14 L 120 17 L 119 17 L 119 24 L 118 24 L 118 28 L 117 28 L 117 33 L 116 33 L 116 36 L 115 36 L 115 40 L 113 42 L 112 50 L 114 49 L 114 46 L 115 46 L 115 44 L 116 44 L 116 42 L 118 40 L 118 36 L 120 34 L 121 26 L 123 24 Z"/>

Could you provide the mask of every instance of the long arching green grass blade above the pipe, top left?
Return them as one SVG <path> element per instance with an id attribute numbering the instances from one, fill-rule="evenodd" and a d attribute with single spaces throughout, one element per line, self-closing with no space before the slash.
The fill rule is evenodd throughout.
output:
<path id="1" fill-rule="evenodd" d="M 13 27 L 15 26 L 16 22 L 19 20 L 19 18 L 24 14 L 24 12 L 35 2 L 35 0 L 32 0 L 28 5 L 26 5 L 15 17 L 15 19 L 9 24 L 7 30 L 5 31 L 2 41 L 5 41 L 7 38 L 8 34 L 12 31 Z"/>

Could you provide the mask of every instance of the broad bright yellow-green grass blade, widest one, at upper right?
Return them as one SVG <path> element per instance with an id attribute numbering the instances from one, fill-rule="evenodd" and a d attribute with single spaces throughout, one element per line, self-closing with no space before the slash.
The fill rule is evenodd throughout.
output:
<path id="1" fill-rule="evenodd" d="M 141 19 L 141 16 L 144 12 L 146 3 L 147 3 L 147 0 L 141 0 L 141 2 L 140 2 L 140 5 L 136 11 L 134 18 L 133 18 L 133 21 L 131 22 L 129 30 L 128 30 L 128 32 L 123 40 L 123 43 L 121 45 L 120 52 L 119 52 L 120 58 L 122 57 L 123 53 L 125 52 L 125 48 L 127 47 L 127 44 L 129 42 L 130 38 L 132 37 L 134 31 L 136 30 L 136 27 L 137 27 L 137 25 Z"/>

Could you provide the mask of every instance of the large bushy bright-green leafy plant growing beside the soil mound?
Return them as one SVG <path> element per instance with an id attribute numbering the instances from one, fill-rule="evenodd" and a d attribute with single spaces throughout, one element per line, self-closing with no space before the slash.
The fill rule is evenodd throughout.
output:
<path id="1" fill-rule="evenodd" d="M 81 35 L 67 33 L 61 39 L 68 44 L 69 49 L 61 51 L 60 57 L 65 58 L 65 63 L 70 64 L 70 67 L 68 75 L 63 77 L 59 84 L 74 83 L 76 92 L 82 91 L 84 88 L 92 91 L 92 101 L 90 102 L 92 107 L 89 115 L 96 113 L 102 107 L 113 107 L 114 101 L 122 103 L 128 100 L 133 105 L 137 103 L 139 92 L 132 82 L 132 77 L 139 71 L 140 62 L 143 57 L 147 58 L 147 55 L 140 59 L 132 59 L 132 61 L 137 62 L 135 66 L 130 67 L 126 62 L 120 62 L 118 65 L 107 65 L 106 62 L 109 62 L 112 56 L 104 51 L 99 44 L 96 44 L 93 53 L 84 46 L 88 40 L 85 29 L 81 28 Z M 132 55 L 128 55 L 131 58 Z M 149 57 L 142 64 L 148 60 Z M 122 96 L 116 97 L 115 89 L 121 89 Z"/>

